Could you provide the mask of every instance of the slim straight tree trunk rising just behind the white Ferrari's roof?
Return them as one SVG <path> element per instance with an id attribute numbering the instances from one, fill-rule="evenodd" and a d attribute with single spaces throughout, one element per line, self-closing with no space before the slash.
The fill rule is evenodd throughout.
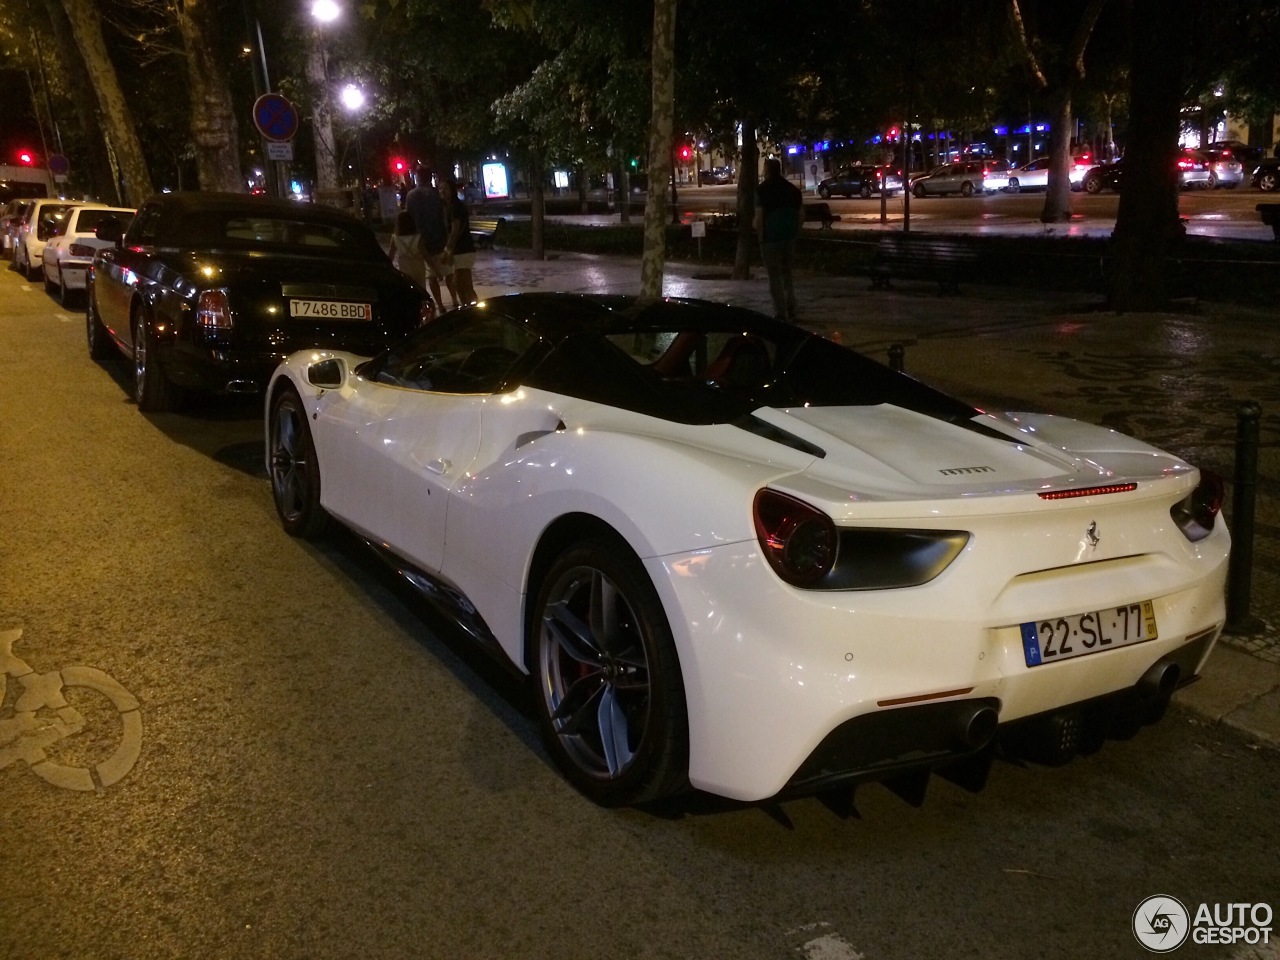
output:
<path id="1" fill-rule="evenodd" d="M 653 105 L 649 116 L 649 192 L 644 206 L 640 296 L 662 296 L 667 260 L 667 182 L 676 127 L 676 0 L 653 5 Z"/>

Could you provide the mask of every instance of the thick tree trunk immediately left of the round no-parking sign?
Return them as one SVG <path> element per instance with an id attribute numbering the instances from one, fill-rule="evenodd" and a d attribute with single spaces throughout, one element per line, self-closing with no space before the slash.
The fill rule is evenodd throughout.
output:
<path id="1" fill-rule="evenodd" d="M 216 19 L 211 19 L 204 0 L 183 0 L 178 5 L 178 29 L 191 77 L 191 138 L 200 188 L 243 193 L 236 111 L 227 74 L 214 55 Z"/>

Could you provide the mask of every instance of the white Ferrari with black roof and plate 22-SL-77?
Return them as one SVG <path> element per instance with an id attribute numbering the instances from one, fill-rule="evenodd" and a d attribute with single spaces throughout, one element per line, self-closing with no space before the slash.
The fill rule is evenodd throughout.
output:
<path id="1" fill-rule="evenodd" d="M 1224 621 L 1217 477 L 737 307 L 498 297 L 292 355 L 265 433 L 284 529 L 527 673 L 603 804 L 977 787 L 1157 719 Z"/>

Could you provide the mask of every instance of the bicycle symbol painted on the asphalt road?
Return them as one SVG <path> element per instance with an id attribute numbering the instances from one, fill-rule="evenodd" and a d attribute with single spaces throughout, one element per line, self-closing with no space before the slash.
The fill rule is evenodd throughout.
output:
<path id="1" fill-rule="evenodd" d="M 13 653 L 13 644 L 20 636 L 20 628 L 0 631 L 0 704 L 4 703 L 6 677 L 14 677 L 23 687 L 17 695 L 13 718 L 0 718 L 0 769 L 23 760 L 32 773 L 67 790 L 93 791 L 119 782 L 142 753 L 142 713 L 137 698 L 96 667 L 74 666 L 36 673 Z M 65 687 L 93 690 L 110 700 L 120 714 L 119 746 L 92 767 L 68 767 L 50 760 L 45 753 L 46 748 L 84 728 L 83 716 L 63 696 Z M 38 713 L 42 709 L 46 713 Z"/>

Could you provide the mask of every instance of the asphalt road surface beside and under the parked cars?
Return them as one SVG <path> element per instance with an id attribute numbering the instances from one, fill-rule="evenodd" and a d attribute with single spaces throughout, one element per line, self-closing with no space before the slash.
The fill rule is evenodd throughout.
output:
<path id="1" fill-rule="evenodd" d="M 1078 960 L 1147 956 L 1155 895 L 1280 909 L 1280 755 L 1178 708 L 922 808 L 594 808 L 518 684 L 280 531 L 256 404 L 143 416 L 127 379 L 0 270 L 3 957 Z M 79 721 L 22 749 L 60 684 Z"/>

